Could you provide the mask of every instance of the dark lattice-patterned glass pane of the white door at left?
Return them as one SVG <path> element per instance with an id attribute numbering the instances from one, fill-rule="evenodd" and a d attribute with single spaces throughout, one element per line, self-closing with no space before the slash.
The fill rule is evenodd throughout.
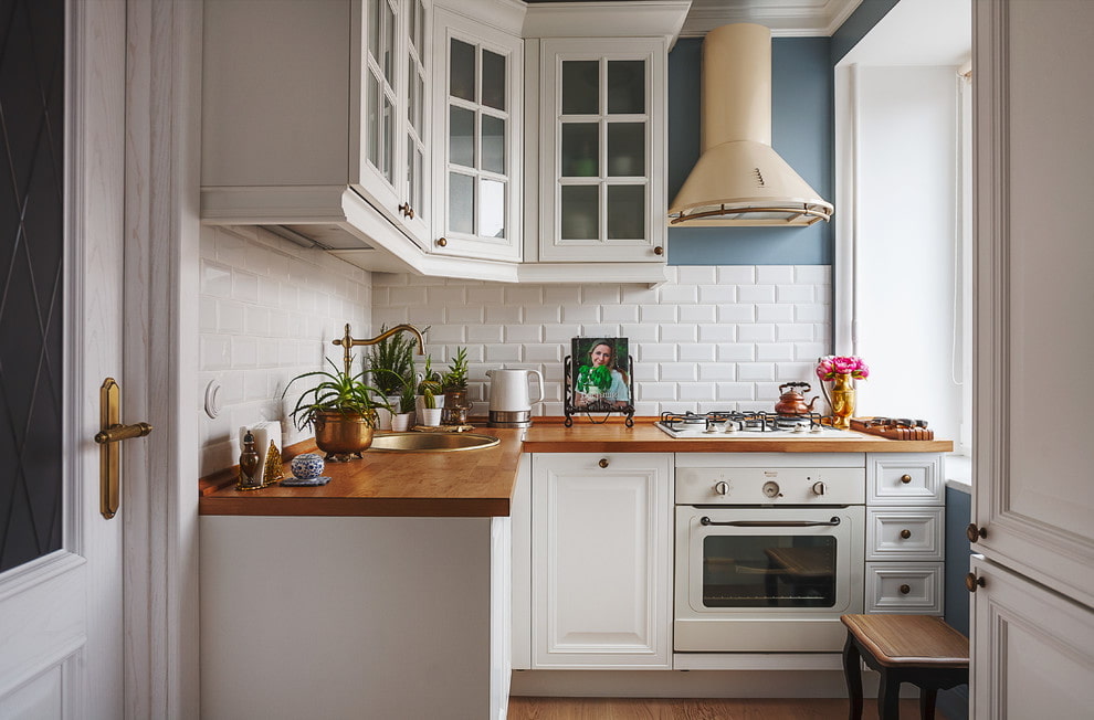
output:
<path id="1" fill-rule="evenodd" d="M 62 542 L 64 15 L 0 10 L 0 572 Z"/>

